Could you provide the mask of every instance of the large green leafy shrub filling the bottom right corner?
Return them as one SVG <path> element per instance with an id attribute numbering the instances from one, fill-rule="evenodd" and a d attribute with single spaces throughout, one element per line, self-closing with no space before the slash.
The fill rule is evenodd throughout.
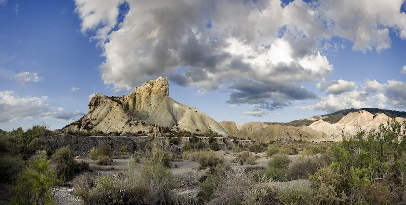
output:
<path id="1" fill-rule="evenodd" d="M 351 139 L 331 146 L 334 163 L 319 169 L 310 179 L 318 201 L 334 199 L 348 204 L 398 204 L 404 202 L 406 177 L 406 121 L 403 127 L 392 120 L 379 130 L 358 132 Z M 386 187 L 386 188 L 385 188 Z M 327 188 L 328 193 L 322 189 Z M 390 193 L 392 197 L 374 197 L 371 192 Z M 386 198 L 386 199 L 385 199 Z M 390 199 L 390 200 L 389 200 Z"/>

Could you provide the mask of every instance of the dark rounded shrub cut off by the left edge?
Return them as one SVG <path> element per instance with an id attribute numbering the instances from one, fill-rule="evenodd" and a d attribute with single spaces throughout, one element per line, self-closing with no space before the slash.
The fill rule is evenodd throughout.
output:
<path id="1" fill-rule="evenodd" d="M 18 174 L 24 170 L 24 161 L 13 155 L 0 156 L 0 182 L 12 183 L 17 180 Z"/>

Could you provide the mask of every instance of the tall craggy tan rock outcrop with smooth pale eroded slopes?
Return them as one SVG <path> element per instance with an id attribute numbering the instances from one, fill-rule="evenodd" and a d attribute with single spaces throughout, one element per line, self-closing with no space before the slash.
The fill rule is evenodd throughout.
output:
<path id="1" fill-rule="evenodd" d="M 158 125 L 197 134 L 211 129 L 222 136 L 229 135 L 210 116 L 176 102 L 168 94 L 166 77 L 150 80 L 123 97 L 95 94 L 89 102 L 88 113 L 63 130 L 147 133 L 151 125 Z"/>

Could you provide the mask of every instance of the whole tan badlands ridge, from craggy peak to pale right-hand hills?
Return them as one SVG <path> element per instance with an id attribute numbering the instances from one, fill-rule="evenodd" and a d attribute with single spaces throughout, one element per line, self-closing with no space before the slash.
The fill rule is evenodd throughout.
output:
<path id="1" fill-rule="evenodd" d="M 197 108 L 181 104 L 169 97 L 167 79 L 159 77 L 136 87 L 123 97 L 95 94 L 89 102 L 88 113 L 62 131 L 118 133 L 125 136 L 130 133 L 149 133 L 152 125 L 158 125 L 195 134 L 214 131 L 224 137 L 233 136 L 259 143 L 278 139 L 320 142 L 341 141 L 343 137 L 355 135 L 357 130 L 369 132 L 388 121 L 403 122 L 405 118 L 390 118 L 383 112 L 372 114 L 359 110 L 346 114 L 333 124 L 323 121 L 322 116 L 305 120 L 313 123 L 310 126 L 298 127 L 266 122 L 247 122 L 245 125 L 233 121 L 218 123 Z"/>

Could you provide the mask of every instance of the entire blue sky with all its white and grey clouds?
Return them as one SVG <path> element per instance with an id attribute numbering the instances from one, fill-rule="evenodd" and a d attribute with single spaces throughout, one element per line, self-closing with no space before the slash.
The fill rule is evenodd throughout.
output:
<path id="1" fill-rule="evenodd" d="M 0 0 L 0 129 L 51 130 L 165 76 L 216 121 L 406 111 L 404 0 Z"/>

